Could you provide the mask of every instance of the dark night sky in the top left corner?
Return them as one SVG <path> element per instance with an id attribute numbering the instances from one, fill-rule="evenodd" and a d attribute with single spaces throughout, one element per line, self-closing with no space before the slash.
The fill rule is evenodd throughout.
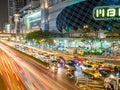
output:
<path id="1" fill-rule="evenodd" d="M 8 22 L 8 0 L 0 0 L 0 29 Z"/>

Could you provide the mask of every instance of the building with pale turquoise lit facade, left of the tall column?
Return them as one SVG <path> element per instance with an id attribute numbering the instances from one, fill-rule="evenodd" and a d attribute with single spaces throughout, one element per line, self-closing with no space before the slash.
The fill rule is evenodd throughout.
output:
<path id="1" fill-rule="evenodd" d="M 20 32 L 27 33 L 40 28 L 41 11 L 40 0 L 27 0 L 27 4 L 19 10 Z"/>

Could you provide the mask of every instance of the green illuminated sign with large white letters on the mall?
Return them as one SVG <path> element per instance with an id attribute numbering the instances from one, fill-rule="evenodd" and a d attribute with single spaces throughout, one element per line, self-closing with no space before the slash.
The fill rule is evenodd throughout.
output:
<path id="1" fill-rule="evenodd" d="M 93 9 L 95 20 L 120 19 L 120 6 L 101 6 Z"/>

